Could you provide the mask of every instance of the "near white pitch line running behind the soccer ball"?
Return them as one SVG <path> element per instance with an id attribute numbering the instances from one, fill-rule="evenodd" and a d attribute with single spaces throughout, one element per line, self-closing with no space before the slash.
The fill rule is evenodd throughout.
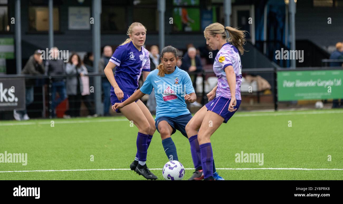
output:
<path id="1" fill-rule="evenodd" d="M 219 170 L 317 170 L 317 171 L 343 171 L 343 169 L 307 169 L 307 168 L 216 168 Z M 28 171 L 0 171 L 0 173 L 10 172 L 52 172 L 52 171 L 122 171 L 131 169 L 67 169 L 67 170 L 28 170 Z M 150 170 L 162 170 L 162 169 L 150 169 Z M 193 170 L 193 168 L 185 168 L 185 170 Z"/>

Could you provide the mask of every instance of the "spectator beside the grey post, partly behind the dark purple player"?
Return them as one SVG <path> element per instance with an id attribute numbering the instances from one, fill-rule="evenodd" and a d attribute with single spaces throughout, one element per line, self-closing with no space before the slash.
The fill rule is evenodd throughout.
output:
<path id="1" fill-rule="evenodd" d="M 99 73 L 104 73 L 104 69 L 107 66 L 107 63 L 109 59 L 113 55 L 113 50 L 111 46 L 105 46 L 104 47 L 104 53 L 103 56 L 99 60 L 98 68 L 99 68 Z M 113 69 L 113 73 L 115 73 L 116 68 Z M 111 84 L 107 80 L 106 77 L 101 78 L 101 85 L 103 88 L 103 93 L 104 93 L 104 116 L 109 116 L 109 108 L 111 106 L 111 99 L 110 99 L 110 91 L 111 91 Z"/>

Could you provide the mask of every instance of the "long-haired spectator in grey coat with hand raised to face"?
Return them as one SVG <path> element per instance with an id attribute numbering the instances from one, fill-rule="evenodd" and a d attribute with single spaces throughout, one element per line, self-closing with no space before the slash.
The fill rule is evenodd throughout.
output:
<path id="1" fill-rule="evenodd" d="M 69 118 L 80 116 L 81 99 L 86 105 L 89 115 L 97 116 L 90 102 L 90 87 L 89 77 L 84 76 L 88 74 L 86 67 L 83 65 L 81 58 L 77 54 L 72 54 L 69 62 L 66 65 L 67 75 L 80 75 L 79 77 L 67 78 L 67 94 L 69 101 L 69 110 L 63 117 Z"/>

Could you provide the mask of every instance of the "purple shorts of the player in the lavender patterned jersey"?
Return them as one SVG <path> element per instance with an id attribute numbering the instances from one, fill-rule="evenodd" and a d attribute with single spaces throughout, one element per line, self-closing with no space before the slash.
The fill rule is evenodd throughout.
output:
<path id="1" fill-rule="evenodd" d="M 234 109 L 237 109 L 234 112 L 228 111 L 230 100 L 225 97 L 218 97 L 214 98 L 212 101 L 206 103 L 206 108 L 208 111 L 212 111 L 217 113 L 218 115 L 222 116 L 224 118 L 224 123 L 227 123 L 227 121 L 236 113 L 236 111 L 239 108 L 241 100 L 236 100 L 237 104 L 234 106 Z"/>

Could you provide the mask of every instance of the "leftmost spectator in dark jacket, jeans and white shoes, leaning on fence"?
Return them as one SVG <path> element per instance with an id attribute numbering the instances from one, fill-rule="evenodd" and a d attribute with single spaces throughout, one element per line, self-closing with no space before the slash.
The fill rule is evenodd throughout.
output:
<path id="1" fill-rule="evenodd" d="M 25 64 L 24 69 L 21 72 L 22 74 L 27 75 L 39 75 L 44 74 L 44 64 L 43 59 L 40 58 L 40 50 L 36 50 L 33 55 L 30 56 L 27 63 Z M 23 111 L 13 111 L 14 119 L 17 121 L 29 120 L 27 115 L 27 107 L 34 100 L 34 86 L 36 85 L 36 79 L 25 79 L 25 110 Z"/>

